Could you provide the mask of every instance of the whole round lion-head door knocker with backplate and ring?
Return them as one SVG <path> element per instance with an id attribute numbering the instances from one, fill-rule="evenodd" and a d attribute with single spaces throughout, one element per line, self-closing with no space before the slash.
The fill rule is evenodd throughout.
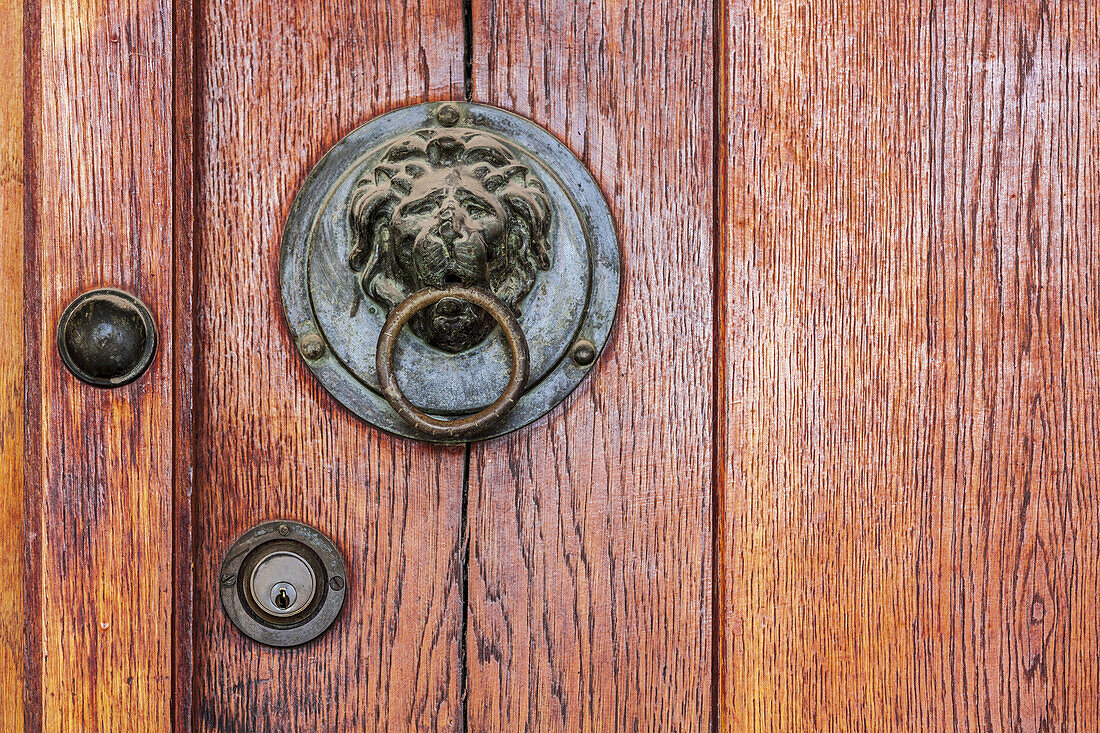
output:
<path id="1" fill-rule="evenodd" d="M 298 350 L 337 400 L 454 442 L 520 428 L 581 382 L 614 320 L 619 250 L 596 183 L 557 139 L 442 102 L 375 118 L 321 158 L 280 276 Z"/>

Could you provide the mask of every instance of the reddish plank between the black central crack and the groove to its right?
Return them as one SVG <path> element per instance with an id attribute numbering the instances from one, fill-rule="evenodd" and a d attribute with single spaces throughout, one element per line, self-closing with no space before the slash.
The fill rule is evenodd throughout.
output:
<path id="1" fill-rule="evenodd" d="M 624 250 L 598 368 L 473 446 L 473 731 L 711 720 L 713 7 L 474 0 L 473 97 L 559 135 Z"/>

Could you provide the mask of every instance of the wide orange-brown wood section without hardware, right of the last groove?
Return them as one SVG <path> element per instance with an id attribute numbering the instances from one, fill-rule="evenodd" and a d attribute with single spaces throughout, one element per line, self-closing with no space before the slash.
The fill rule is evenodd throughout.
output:
<path id="1" fill-rule="evenodd" d="M 723 20 L 722 729 L 1096 730 L 1096 13 Z"/>

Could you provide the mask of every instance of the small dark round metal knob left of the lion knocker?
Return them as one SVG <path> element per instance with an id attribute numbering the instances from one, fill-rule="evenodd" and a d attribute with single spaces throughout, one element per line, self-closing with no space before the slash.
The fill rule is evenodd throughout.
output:
<path id="1" fill-rule="evenodd" d="M 57 350 L 77 379 L 118 387 L 141 376 L 156 353 L 156 325 L 145 304 L 102 287 L 74 299 L 57 324 Z"/>

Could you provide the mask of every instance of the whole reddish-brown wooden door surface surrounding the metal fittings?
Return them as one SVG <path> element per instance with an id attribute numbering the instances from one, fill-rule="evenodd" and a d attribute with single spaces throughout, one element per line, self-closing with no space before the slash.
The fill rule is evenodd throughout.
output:
<path id="1" fill-rule="evenodd" d="M 1100 7 L 8 0 L 0 712 L 30 731 L 1100 730 Z M 598 368 L 508 437 L 370 428 L 295 353 L 321 154 L 546 127 L 623 248 Z M 138 294 L 152 369 L 55 348 Z M 311 644 L 218 568 L 340 547 Z"/>

